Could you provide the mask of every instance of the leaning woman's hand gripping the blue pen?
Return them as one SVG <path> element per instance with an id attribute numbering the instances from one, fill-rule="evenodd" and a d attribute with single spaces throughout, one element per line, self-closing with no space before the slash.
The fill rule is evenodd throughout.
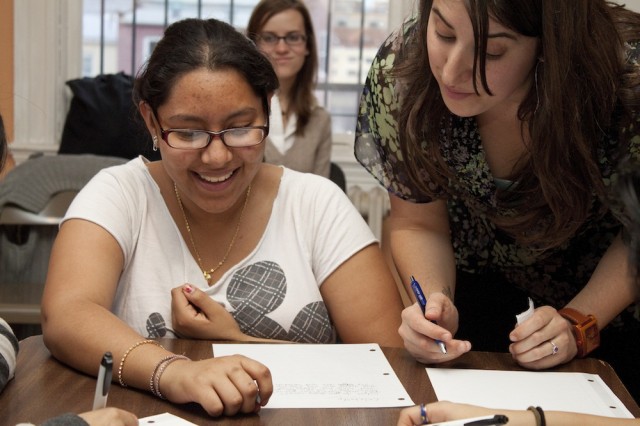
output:
<path id="1" fill-rule="evenodd" d="M 434 324 L 434 322 L 437 324 Z M 398 330 L 405 348 L 418 361 L 436 364 L 452 360 L 471 350 L 471 343 L 453 339 L 458 330 L 458 310 L 442 293 L 432 293 L 425 314 L 417 303 L 402 311 L 402 325 Z M 443 354 L 436 340 L 445 343 Z"/>

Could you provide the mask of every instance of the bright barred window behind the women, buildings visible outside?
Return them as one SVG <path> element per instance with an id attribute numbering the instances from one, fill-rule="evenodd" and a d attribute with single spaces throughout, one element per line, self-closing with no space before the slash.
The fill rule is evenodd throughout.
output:
<path id="1" fill-rule="evenodd" d="M 84 76 L 124 71 L 135 75 L 164 28 L 188 17 L 214 17 L 244 31 L 258 0 L 83 0 L 83 57 L 100 61 Z M 390 0 L 307 0 L 318 38 L 319 103 L 333 131 L 351 132 L 369 62 L 389 33 Z M 339 17 L 339 18 L 332 18 Z M 134 46 L 132 48 L 132 46 Z"/>

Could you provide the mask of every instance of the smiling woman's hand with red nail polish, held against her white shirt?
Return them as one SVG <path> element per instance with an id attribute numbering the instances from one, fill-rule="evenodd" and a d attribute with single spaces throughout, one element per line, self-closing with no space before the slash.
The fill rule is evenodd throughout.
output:
<path id="1" fill-rule="evenodd" d="M 222 305 L 190 284 L 171 290 L 171 318 L 179 336 L 235 341 L 247 338 Z"/>

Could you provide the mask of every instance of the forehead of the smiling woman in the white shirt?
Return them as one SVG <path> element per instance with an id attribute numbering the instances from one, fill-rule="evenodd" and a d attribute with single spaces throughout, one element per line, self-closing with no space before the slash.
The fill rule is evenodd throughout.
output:
<path id="1" fill-rule="evenodd" d="M 260 105 L 260 98 L 244 76 L 233 69 L 199 68 L 180 76 L 174 83 L 164 110 L 232 110 Z"/>

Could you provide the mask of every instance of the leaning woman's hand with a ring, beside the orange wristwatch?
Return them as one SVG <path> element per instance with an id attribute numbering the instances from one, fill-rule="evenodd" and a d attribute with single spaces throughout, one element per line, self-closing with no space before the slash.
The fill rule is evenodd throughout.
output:
<path id="1" fill-rule="evenodd" d="M 540 370 L 571 361 L 578 353 L 571 325 L 551 306 L 541 306 L 509 334 L 509 352 L 525 368 Z"/>

